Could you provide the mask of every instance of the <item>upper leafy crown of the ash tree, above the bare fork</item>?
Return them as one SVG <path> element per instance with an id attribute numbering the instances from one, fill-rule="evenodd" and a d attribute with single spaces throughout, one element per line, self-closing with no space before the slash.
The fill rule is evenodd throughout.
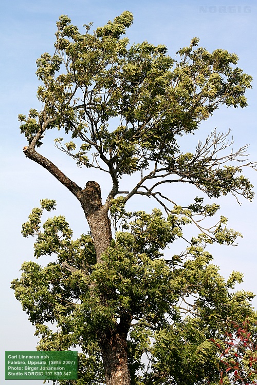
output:
<path id="1" fill-rule="evenodd" d="M 181 154 L 177 142 L 219 105 L 245 107 L 251 76 L 236 67 L 234 53 L 198 48 L 196 37 L 175 59 L 163 45 L 129 45 L 122 35 L 132 22 L 133 15 L 125 11 L 90 34 L 90 25 L 80 33 L 67 16 L 60 16 L 56 51 L 37 61 L 44 109 L 30 110 L 28 118 L 19 115 L 28 143 L 40 129 L 64 128 L 80 150 L 75 152 L 74 141 L 59 148 L 81 167 L 107 166 L 117 181 L 157 162 L 161 168 L 155 174 L 177 175 L 210 197 L 232 192 L 252 199 L 252 185 L 238 175 L 242 167 L 221 167 L 224 162 L 213 162 L 203 152 Z M 120 123 L 115 127 L 116 117 Z"/>

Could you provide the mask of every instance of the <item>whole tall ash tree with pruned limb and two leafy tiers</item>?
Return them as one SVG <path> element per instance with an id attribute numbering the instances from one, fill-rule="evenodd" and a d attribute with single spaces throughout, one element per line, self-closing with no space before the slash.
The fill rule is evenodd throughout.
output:
<path id="1" fill-rule="evenodd" d="M 90 234 L 72 240 L 63 216 L 41 227 L 43 210 L 56 205 L 41 200 L 22 232 L 36 236 L 36 258 L 57 260 L 44 268 L 25 262 L 12 287 L 41 336 L 38 349 L 82 349 L 78 384 L 217 383 L 217 339 L 225 341 L 235 321 L 254 324 L 256 315 L 252 293 L 231 293 L 242 275 L 233 272 L 225 282 L 206 246 L 234 244 L 240 234 L 227 228 L 223 216 L 214 226 L 202 225 L 218 204 L 196 197 L 183 207 L 163 186 L 191 184 L 209 198 L 229 193 L 253 198 L 241 174 L 243 167 L 255 167 L 244 159 L 245 146 L 226 151 L 232 144 L 228 134 L 216 131 L 195 153 L 182 153 L 178 143 L 220 105 L 246 107 L 252 79 L 236 67 L 235 54 L 197 48 L 198 38 L 176 59 L 163 45 L 129 45 L 121 36 L 132 22 L 125 11 L 92 34 L 91 24 L 84 25 L 82 34 L 61 16 L 56 51 L 37 61 L 43 107 L 19 115 L 28 142 L 23 150 L 79 200 Z M 97 181 L 78 186 L 36 150 L 49 129 L 69 136 L 65 144 L 57 138 L 56 147 L 79 167 L 111 178 L 105 202 Z M 135 185 L 120 189 L 123 177 L 132 175 Z M 159 208 L 152 214 L 127 212 L 126 202 L 137 195 L 155 199 Z M 185 252 L 165 259 L 163 250 L 185 239 L 183 226 L 189 223 L 200 234 L 186 240 Z"/>

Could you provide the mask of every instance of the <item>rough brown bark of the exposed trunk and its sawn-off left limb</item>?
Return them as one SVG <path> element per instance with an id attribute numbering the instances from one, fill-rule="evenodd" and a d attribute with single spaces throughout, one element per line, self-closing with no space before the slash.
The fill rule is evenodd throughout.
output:
<path id="1" fill-rule="evenodd" d="M 46 168 L 80 201 L 93 237 L 97 262 L 102 263 L 101 256 L 111 243 L 112 230 L 108 217 L 109 207 L 102 205 L 99 184 L 95 181 L 88 181 L 85 188 L 82 189 L 49 159 L 36 152 L 33 147 L 24 147 L 24 153 L 26 157 Z M 68 265 L 65 267 L 70 268 Z M 125 332 L 121 331 L 121 324 L 117 324 L 115 331 L 99 331 L 98 342 L 102 352 L 106 385 L 130 385 L 126 341 L 128 329 L 125 329 Z"/>

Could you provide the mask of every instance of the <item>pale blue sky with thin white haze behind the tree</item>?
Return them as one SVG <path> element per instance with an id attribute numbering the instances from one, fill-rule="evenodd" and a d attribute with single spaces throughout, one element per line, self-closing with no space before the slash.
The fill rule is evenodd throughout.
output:
<path id="1" fill-rule="evenodd" d="M 20 134 L 17 114 L 27 114 L 30 108 L 39 108 L 36 90 L 35 61 L 44 52 L 53 53 L 56 21 L 61 14 L 71 18 L 72 24 L 81 30 L 83 24 L 94 22 L 97 28 L 106 24 L 124 10 L 134 14 L 134 23 L 127 36 L 131 43 L 149 41 L 164 44 L 174 57 L 181 47 L 188 46 L 192 37 L 200 38 L 200 46 L 209 51 L 216 48 L 235 52 L 238 65 L 253 76 L 253 88 L 247 91 L 249 106 L 245 109 L 225 108 L 215 111 L 214 116 L 200 127 L 199 134 L 186 140 L 185 146 L 197 144 L 207 133 L 217 127 L 217 131 L 231 129 L 234 147 L 249 144 L 250 160 L 257 160 L 256 135 L 256 42 L 257 5 L 254 1 L 207 1 L 166 0 L 103 1 L 95 0 L 13 0 L 2 2 L 0 16 L 0 159 L 1 159 L 1 204 L 0 204 L 0 256 L 1 256 L 1 309 L 0 318 L 0 383 L 20 384 L 23 380 L 4 379 L 5 351 L 33 351 L 37 337 L 28 316 L 15 299 L 10 282 L 19 277 L 23 261 L 33 260 L 33 239 L 23 238 L 21 225 L 27 220 L 31 209 L 39 205 L 42 198 L 57 200 L 54 215 L 64 215 L 74 229 L 75 236 L 87 231 L 85 218 L 79 203 L 39 165 L 24 157 L 22 148 L 25 138 Z M 53 148 L 53 138 L 49 137 L 42 154 L 62 167 L 66 175 L 81 187 L 87 180 L 96 179 L 101 184 L 103 195 L 107 194 L 109 181 L 90 170 L 76 169 L 70 160 L 63 158 Z M 256 172 L 247 169 L 245 175 L 257 186 Z M 129 183 L 129 182 L 127 182 Z M 256 190 L 256 189 L 255 189 Z M 203 196 L 196 191 L 175 187 L 171 198 L 184 205 L 191 203 L 194 196 Z M 228 278 L 231 271 L 244 273 L 241 288 L 257 293 L 256 258 L 256 214 L 257 199 L 252 203 L 242 200 L 238 205 L 233 197 L 227 196 L 217 201 L 221 214 L 229 218 L 229 226 L 240 231 L 244 238 L 238 240 L 237 247 L 212 246 L 210 251 L 214 263 L 220 266 L 221 274 Z M 135 210 L 150 210 L 151 205 L 144 200 L 134 200 Z M 180 247 L 174 246 L 174 247 Z M 175 248 L 174 248 L 175 250 Z M 173 252 L 170 251 L 170 252 Z M 175 251 L 176 252 L 176 251 Z M 39 261 L 41 262 L 41 261 Z M 42 261 L 48 262 L 47 258 Z M 257 299 L 253 304 L 257 307 Z M 30 380 L 30 385 L 40 380 Z M 41 381 L 42 383 L 42 381 Z"/>

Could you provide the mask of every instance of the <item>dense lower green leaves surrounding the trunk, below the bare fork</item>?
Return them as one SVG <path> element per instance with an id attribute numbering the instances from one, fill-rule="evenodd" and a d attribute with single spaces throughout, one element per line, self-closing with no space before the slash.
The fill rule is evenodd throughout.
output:
<path id="1" fill-rule="evenodd" d="M 195 202 L 192 210 L 208 211 L 203 200 Z M 99 264 L 90 236 L 72 240 L 64 217 L 49 218 L 40 227 L 43 210 L 54 205 L 41 200 L 41 208 L 34 208 L 23 225 L 23 234 L 36 235 L 37 258 L 54 254 L 56 262 L 46 267 L 24 262 L 21 278 L 12 281 L 16 298 L 41 337 L 38 349 L 79 346 L 83 354 L 77 383 L 100 384 L 104 377 L 96 337 L 103 328 L 115 329 L 130 319 L 132 384 L 217 383 L 219 348 L 212 340 L 225 341 L 234 320 L 257 321 L 250 306 L 253 294 L 231 292 L 242 282 L 242 274 L 233 272 L 226 282 L 200 237 L 180 256 L 163 259 L 161 250 L 182 236 L 187 221 L 179 215 L 185 210 L 176 207 L 167 219 L 157 209 L 152 214 L 128 213 L 126 231 L 116 233 Z M 126 216 L 122 201 L 114 207 L 113 213 Z M 56 332 L 49 322 L 56 323 Z M 151 369 L 142 362 L 143 354 Z"/>

